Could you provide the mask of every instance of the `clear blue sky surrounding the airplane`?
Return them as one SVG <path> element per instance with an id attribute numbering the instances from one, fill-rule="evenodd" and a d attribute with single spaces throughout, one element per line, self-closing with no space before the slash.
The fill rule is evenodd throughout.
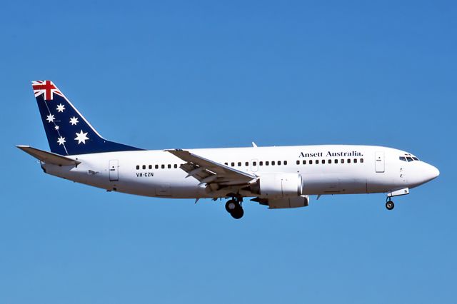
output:
<path id="1" fill-rule="evenodd" d="M 0 303 L 455 303 L 455 1 L 37 1 L 0 11 Z M 349 143 L 441 176 L 270 211 L 41 172 L 30 81 L 151 149 Z"/>

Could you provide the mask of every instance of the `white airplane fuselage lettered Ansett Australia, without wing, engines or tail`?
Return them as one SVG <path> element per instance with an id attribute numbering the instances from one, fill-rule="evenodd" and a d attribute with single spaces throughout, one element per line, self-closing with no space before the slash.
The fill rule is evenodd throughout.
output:
<path id="1" fill-rule="evenodd" d="M 201 157 L 261 177 L 299 173 L 303 194 L 386 193 L 438 176 L 423 161 L 402 161 L 405 151 L 381 146 L 283 146 L 190 149 Z M 109 191 L 167 198 L 215 198 L 167 151 L 126 151 L 71 156 L 79 166 L 41 163 L 46 173 Z M 273 164 L 274 163 L 274 164 Z M 243 196 L 256 196 L 244 193 Z"/>

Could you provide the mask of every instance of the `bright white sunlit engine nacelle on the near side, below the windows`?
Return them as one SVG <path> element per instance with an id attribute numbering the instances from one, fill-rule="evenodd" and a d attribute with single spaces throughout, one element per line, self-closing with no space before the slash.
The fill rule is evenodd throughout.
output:
<path id="1" fill-rule="evenodd" d="M 303 181 L 298 173 L 264 174 L 256 186 L 261 198 L 298 197 L 303 194 Z"/>

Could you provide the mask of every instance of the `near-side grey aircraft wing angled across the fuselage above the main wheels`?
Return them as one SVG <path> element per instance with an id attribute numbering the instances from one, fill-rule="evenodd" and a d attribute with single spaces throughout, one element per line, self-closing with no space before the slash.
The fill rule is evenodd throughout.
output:
<path id="1" fill-rule="evenodd" d="M 238 171 L 222 163 L 190 153 L 189 151 L 181 149 L 165 151 L 186 161 L 180 168 L 188 173 L 187 177 L 193 176 L 201 184 L 216 183 L 219 186 L 218 188 L 226 186 L 248 186 L 251 182 L 256 181 L 257 178 L 253 174 Z"/>

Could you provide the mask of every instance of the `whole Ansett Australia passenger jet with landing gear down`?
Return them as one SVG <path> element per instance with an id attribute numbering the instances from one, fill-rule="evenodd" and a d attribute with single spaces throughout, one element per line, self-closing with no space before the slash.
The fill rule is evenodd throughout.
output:
<path id="1" fill-rule="evenodd" d="M 439 176 L 406 151 L 383 146 L 322 145 L 150 151 L 103 138 L 49 80 L 32 81 L 50 152 L 17 146 L 44 173 L 106 191 L 159 198 L 227 199 L 233 218 L 243 199 L 271 209 L 299 208 L 310 196 L 403 196 Z"/>

